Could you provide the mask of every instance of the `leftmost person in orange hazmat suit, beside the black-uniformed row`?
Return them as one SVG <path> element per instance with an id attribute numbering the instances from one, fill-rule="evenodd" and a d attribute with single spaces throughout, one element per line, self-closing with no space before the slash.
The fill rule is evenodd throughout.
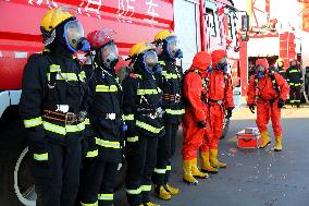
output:
<path id="1" fill-rule="evenodd" d="M 190 69 L 184 74 L 183 95 L 186 112 L 183 120 L 183 179 L 196 184 L 195 178 L 207 178 L 197 167 L 197 150 L 202 145 L 207 130 L 208 107 L 203 99 L 207 93 L 205 77 L 211 69 L 211 56 L 205 51 L 198 52 Z"/>

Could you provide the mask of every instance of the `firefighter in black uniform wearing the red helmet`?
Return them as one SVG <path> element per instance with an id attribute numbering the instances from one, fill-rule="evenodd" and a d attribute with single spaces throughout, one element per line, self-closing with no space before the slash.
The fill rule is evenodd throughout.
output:
<path id="1" fill-rule="evenodd" d="M 83 206 L 109 206 L 113 205 L 114 181 L 122 161 L 122 130 L 126 128 L 122 121 L 122 87 L 114 71 L 119 51 L 104 31 L 89 33 L 87 40 L 96 56 L 94 71 L 92 63 L 85 65 L 90 125 L 79 199 Z"/>

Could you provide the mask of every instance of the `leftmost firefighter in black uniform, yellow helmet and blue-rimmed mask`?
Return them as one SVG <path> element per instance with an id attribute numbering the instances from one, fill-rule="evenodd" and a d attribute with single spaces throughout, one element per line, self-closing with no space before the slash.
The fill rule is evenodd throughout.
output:
<path id="1" fill-rule="evenodd" d="M 49 51 L 29 57 L 20 113 L 29 137 L 37 206 L 72 206 L 79 184 L 85 129 L 85 72 L 73 58 L 88 50 L 78 21 L 64 8 L 48 11 L 40 27 Z"/>

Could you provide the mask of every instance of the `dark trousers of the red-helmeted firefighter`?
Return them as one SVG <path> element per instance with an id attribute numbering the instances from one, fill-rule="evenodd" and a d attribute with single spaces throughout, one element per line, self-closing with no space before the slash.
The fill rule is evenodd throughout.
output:
<path id="1" fill-rule="evenodd" d="M 89 159 L 83 165 L 78 201 L 83 204 L 112 206 L 119 163 L 102 161 L 97 157 Z"/>

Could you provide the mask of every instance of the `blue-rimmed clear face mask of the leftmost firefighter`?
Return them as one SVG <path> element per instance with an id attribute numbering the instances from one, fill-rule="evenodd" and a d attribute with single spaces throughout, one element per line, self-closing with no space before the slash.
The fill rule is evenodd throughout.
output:
<path id="1" fill-rule="evenodd" d="M 70 21 L 64 25 L 63 37 L 67 48 L 73 52 L 90 49 L 89 43 L 84 37 L 84 28 L 78 21 Z"/>

